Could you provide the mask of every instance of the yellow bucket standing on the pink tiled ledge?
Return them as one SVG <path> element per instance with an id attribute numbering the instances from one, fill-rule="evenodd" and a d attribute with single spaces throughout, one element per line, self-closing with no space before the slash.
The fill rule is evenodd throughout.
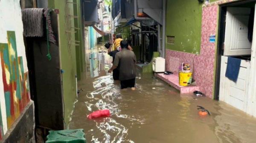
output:
<path id="1" fill-rule="evenodd" d="M 193 70 L 179 70 L 179 84 L 186 87 L 192 83 Z"/>

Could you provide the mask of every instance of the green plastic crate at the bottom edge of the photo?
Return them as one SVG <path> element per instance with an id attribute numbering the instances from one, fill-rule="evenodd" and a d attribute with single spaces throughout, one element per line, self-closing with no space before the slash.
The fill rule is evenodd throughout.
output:
<path id="1" fill-rule="evenodd" d="M 86 143 L 84 129 L 49 131 L 45 143 Z"/>

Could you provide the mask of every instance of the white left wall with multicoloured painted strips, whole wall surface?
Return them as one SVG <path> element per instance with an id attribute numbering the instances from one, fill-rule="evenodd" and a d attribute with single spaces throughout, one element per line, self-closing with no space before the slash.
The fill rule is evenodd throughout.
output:
<path id="1" fill-rule="evenodd" d="M 0 21 L 1 140 L 6 132 L 13 129 L 15 121 L 26 112 L 26 107 L 31 101 L 20 0 L 0 1 Z M 33 115 L 31 118 L 34 118 Z M 31 123 L 30 126 L 34 124 Z"/>

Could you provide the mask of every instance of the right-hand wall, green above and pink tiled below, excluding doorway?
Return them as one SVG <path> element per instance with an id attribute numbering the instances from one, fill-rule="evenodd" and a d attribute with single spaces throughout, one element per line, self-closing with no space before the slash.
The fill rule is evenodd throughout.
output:
<path id="1" fill-rule="evenodd" d="M 198 1 L 167 0 L 166 36 L 175 36 L 175 44 L 166 42 L 166 70 L 177 74 L 180 63 L 191 64 L 193 78 L 201 92 L 210 98 L 214 93 L 219 4 L 232 1 L 236 0 L 210 0 L 206 5 L 199 5 Z M 175 13 L 170 10 L 172 8 Z M 210 35 L 216 36 L 216 42 L 209 42 Z"/>

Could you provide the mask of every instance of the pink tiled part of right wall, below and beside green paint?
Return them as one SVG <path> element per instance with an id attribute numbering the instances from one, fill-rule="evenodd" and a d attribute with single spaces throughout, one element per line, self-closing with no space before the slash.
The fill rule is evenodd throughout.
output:
<path id="1" fill-rule="evenodd" d="M 183 53 L 166 50 L 166 70 L 176 71 L 180 63 L 192 65 L 194 79 L 201 92 L 212 97 L 214 84 L 215 43 L 209 42 L 209 35 L 216 35 L 218 5 L 207 6 L 202 12 L 201 54 Z"/>

